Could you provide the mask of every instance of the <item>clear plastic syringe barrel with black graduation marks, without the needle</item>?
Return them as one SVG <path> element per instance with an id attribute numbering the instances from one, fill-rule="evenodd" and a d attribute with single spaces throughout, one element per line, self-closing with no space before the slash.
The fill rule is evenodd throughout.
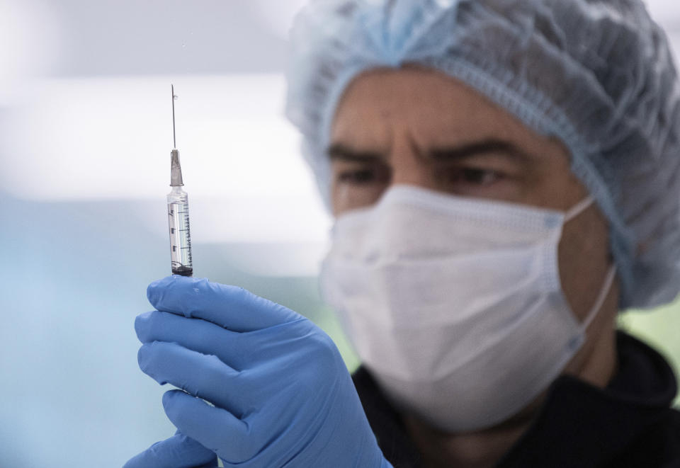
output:
<path id="1" fill-rule="evenodd" d="M 189 202 L 181 187 L 173 187 L 168 194 L 168 225 L 170 232 L 170 260 L 174 275 L 193 275 L 191 261 L 191 231 Z"/>

